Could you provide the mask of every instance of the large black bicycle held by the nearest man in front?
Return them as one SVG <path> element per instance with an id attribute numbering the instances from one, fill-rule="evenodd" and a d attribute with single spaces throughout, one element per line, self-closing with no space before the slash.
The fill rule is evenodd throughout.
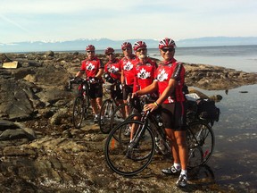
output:
<path id="1" fill-rule="evenodd" d="M 163 142 L 162 154 L 171 153 L 169 139 L 166 138 L 162 125 L 158 124 L 157 114 L 154 111 L 153 113 L 142 112 L 140 121 L 130 119 L 120 123 L 110 132 L 105 141 L 104 156 L 112 171 L 124 176 L 132 176 L 142 172 L 153 160 L 156 138 L 160 138 Z M 124 135 L 124 130 L 132 124 L 137 128 L 137 131 L 130 142 L 130 138 Z M 206 164 L 214 147 L 214 134 L 210 125 L 196 120 L 188 122 L 187 127 L 188 166 L 196 167 Z M 208 136 L 211 136 L 211 145 L 205 144 L 207 141 L 209 143 L 209 139 L 205 141 Z"/>

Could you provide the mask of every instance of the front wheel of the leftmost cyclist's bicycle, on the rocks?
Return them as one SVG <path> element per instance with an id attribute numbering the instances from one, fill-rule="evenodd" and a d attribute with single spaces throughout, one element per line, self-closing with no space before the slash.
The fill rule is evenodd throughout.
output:
<path id="1" fill-rule="evenodd" d="M 85 114 L 85 107 L 84 107 L 83 97 L 77 96 L 73 104 L 73 112 L 72 112 L 72 123 L 75 128 L 79 129 L 81 127 L 84 114 Z"/>

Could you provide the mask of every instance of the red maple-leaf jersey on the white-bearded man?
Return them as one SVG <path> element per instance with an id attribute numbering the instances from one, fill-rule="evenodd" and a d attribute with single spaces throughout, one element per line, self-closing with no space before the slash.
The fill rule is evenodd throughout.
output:
<path id="1" fill-rule="evenodd" d="M 144 63 L 141 63 L 137 58 L 134 68 L 135 79 L 133 92 L 136 92 L 137 90 L 143 89 L 152 84 L 156 66 L 157 64 L 150 58 L 147 58 Z"/>

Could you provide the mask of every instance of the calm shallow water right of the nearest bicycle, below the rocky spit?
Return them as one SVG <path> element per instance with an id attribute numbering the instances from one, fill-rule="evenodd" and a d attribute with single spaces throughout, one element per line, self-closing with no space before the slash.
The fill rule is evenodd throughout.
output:
<path id="1" fill-rule="evenodd" d="M 200 90 L 223 97 L 216 103 L 221 114 L 213 126 L 216 145 L 207 164 L 211 178 L 224 189 L 257 192 L 257 85 L 231 89 L 228 94 Z"/>

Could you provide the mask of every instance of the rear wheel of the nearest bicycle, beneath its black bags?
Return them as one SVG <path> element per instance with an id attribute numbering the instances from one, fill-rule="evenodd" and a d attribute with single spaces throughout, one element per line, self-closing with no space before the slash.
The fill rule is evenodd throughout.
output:
<path id="1" fill-rule="evenodd" d="M 215 146 L 214 133 L 210 125 L 201 121 L 190 122 L 187 132 L 187 142 L 189 149 L 200 147 L 202 150 L 203 159 L 198 165 L 207 164 Z"/>

